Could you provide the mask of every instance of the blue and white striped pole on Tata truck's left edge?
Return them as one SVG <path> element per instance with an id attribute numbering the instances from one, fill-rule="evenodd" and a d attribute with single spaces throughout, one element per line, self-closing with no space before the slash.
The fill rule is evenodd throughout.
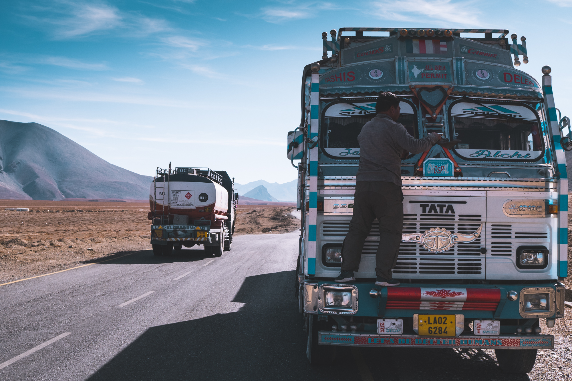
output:
<path id="1" fill-rule="evenodd" d="M 310 139 L 318 136 L 318 123 L 320 115 L 320 75 L 312 73 L 312 84 L 310 93 L 310 125 L 308 137 Z M 306 269 L 308 275 L 316 273 L 316 220 L 317 220 L 317 199 L 318 199 L 318 146 L 308 152 L 308 177 L 309 184 L 309 216 L 308 216 L 308 251 Z"/>

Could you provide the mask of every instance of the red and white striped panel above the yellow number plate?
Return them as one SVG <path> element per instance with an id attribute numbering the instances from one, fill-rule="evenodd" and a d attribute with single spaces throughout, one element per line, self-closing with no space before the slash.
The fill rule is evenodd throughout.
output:
<path id="1" fill-rule="evenodd" d="M 387 309 L 495 311 L 498 288 L 388 287 Z"/>

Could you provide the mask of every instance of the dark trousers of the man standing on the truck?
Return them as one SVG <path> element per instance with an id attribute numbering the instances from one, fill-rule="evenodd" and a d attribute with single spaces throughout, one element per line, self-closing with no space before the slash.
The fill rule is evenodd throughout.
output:
<path id="1" fill-rule="evenodd" d="M 379 221 L 379 247 L 375 254 L 375 273 L 391 279 L 403 232 L 403 192 L 393 182 L 357 182 L 353 217 L 341 249 L 341 269 L 358 271 L 363 245 L 376 218 Z"/>

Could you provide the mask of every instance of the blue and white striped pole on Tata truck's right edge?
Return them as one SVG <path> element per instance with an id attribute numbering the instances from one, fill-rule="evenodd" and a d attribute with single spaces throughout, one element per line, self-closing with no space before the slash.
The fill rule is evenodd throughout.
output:
<path id="1" fill-rule="evenodd" d="M 568 276 L 568 176 L 566 156 L 560 144 L 560 129 L 554 105 L 551 76 L 542 77 L 542 92 L 558 178 L 558 276 L 566 277 Z"/>

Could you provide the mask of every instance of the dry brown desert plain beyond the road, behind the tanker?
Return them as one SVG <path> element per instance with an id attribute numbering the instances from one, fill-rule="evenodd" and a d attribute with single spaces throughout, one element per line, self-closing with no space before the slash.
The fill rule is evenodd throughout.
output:
<path id="1" fill-rule="evenodd" d="M 30 212 L 6 208 L 30 208 Z M 300 228 L 295 207 L 239 205 L 235 235 Z M 149 203 L 0 200 L 0 284 L 149 250 Z"/>

